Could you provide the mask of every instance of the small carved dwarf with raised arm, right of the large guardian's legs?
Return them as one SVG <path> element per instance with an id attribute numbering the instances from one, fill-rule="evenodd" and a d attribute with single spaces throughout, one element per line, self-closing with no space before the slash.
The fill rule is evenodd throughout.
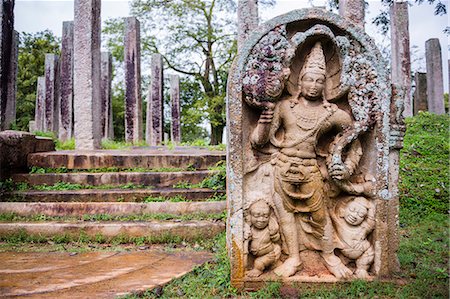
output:
<path id="1" fill-rule="evenodd" d="M 342 242 L 341 253 L 356 260 L 355 276 L 366 279 L 373 263 L 374 250 L 367 236 L 375 227 L 375 207 L 364 197 L 355 197 L 331 213 L 337 235 Z"/>

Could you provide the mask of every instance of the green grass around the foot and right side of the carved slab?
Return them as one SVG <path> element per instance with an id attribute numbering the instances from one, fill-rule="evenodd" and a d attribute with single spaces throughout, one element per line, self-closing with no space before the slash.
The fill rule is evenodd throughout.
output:
<path id="1" fill-rule="evenodd" d="M 126 298 L 448 298 L 449 297 L 449 116 L 422 113 L 407 119 L 401 152 L 400 250 L 403 284 L 353 281 L 326 286 L 268 284 L 237 293 L 229 281 L 225 236 L 216 260 L 164 288 Z"/>

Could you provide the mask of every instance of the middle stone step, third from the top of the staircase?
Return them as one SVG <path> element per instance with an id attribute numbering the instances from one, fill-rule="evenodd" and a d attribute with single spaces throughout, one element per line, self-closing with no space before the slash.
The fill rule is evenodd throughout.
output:
<path id="1" fill-rule="evenodd" d="M 203 201 L 222 195 L 223 190 L 193 189 L 83 189 L 61 191 L 15 191 L 2 195 L 2 201 L 15 202 L 142 202 L 145 198 L 181 196 L 190 201 Z"/>

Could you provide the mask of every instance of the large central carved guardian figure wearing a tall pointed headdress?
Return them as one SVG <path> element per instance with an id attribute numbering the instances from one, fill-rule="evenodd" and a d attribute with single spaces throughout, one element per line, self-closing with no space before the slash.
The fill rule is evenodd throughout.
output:
<path id="1" fill-rule="evenodd" d="M 282 98 L 276 104 L 266 102 L 251 136 L 255 149 L 269 142 L 279 148 L 274 167 L 274 205 L 288 251 L 288 259 L 275 269 L 280 276 L 294 275 L 301 265 L 299 252 L 305 248 L 301 248 L 303 240 L 297 231 L 298 221 L 312 228 L 308 234 L 319 244 L 314 249 L 321 251 L 330 272 L 337 278 L 352 275 L 334 255 L 332 235 L 325 232 L 329 217 L 316 155 L 319 138 L 333 129 L 342 132 L 352 124 L 352 119 L 347 112 L 323 98 L 325 79 L 325 57 L 320 42 L 317 42 L 300 71 L 300 93 Z M 355 156 L 351 153 L 360 150 L 361 145 L 356 140 L 351 143 L 348 156 Z M 359 160 L 360 155 L 356 156 Z M 328 165 L 329 176 L 337 181 L 347 180 L 358 162 L 331 163 Z"/>

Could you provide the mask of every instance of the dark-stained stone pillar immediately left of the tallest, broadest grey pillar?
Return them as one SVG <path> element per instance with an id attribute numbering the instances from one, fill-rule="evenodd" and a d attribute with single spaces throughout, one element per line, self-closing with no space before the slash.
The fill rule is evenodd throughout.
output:
<path id="1" fill-rule="evenodd" d="M 59 136 L 62 141 L 73 134 L 73 22 L 63 22 L 60 63 Z"/>

